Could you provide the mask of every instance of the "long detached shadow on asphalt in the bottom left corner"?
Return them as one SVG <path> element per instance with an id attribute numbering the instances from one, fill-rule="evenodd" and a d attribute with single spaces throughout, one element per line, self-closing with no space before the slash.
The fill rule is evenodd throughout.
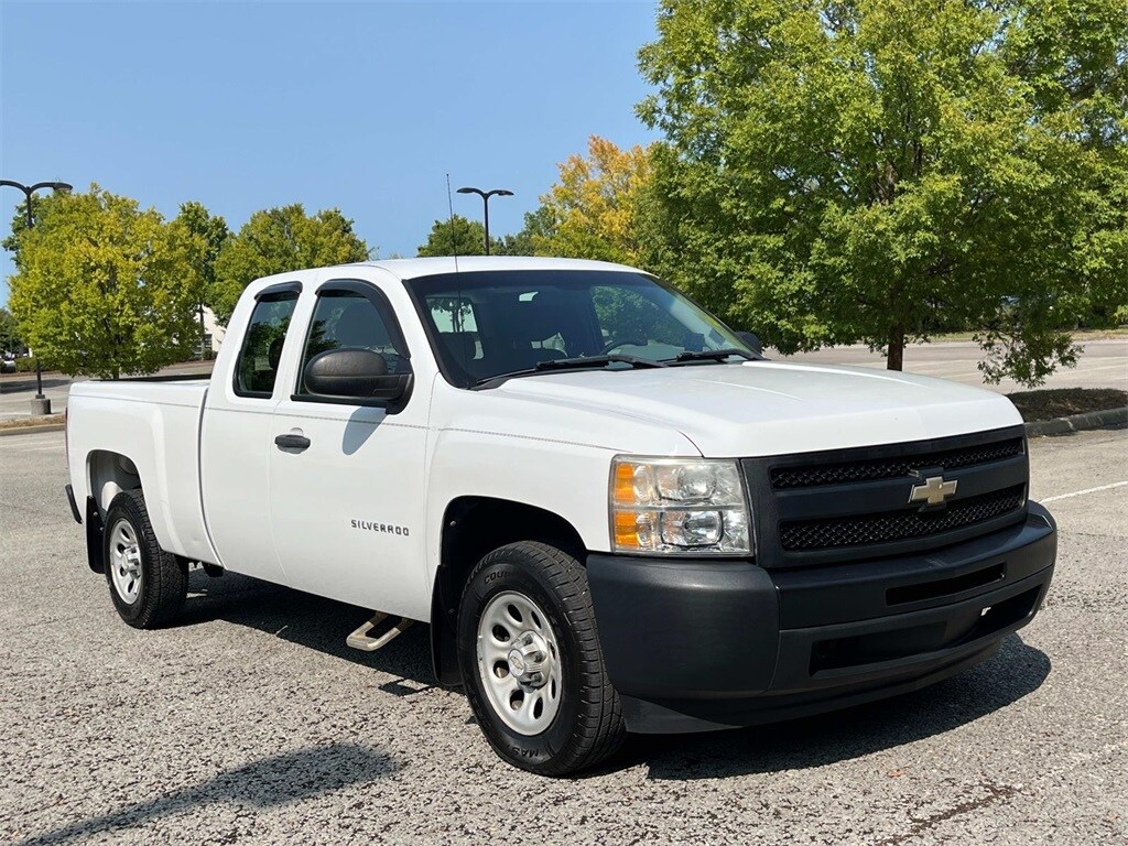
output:
<path id="1" fill-rule="evenodd" d="M 382 778 L 397 769 L 395 761 L 384 752 L 354 743 L 327 743 L 227 769 L 202 784 L 129 804 L 100 817 L 78 820 L 53 831 L 29 835 L 16 843 L 18 846 L 46 846 L 109 834 L 116 838 L 131 828 L 175 813 L 205 813 L 208 805 L 219 803 L 274 808 Z"/>

